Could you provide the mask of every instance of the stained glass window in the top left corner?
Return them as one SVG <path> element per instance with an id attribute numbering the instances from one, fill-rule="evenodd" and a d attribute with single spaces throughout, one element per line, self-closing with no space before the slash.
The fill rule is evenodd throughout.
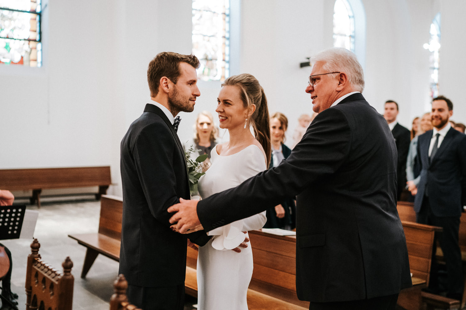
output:
<path id="1" fill-rule="evenodd" d="M 40 67 L 41 0 L 0 0 L 0 63 Z"/>

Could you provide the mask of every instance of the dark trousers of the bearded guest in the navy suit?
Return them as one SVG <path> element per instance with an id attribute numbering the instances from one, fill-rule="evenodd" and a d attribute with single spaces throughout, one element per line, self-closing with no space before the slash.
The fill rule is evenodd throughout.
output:
<path id="1" fill-rule="evenodd" d="M 436 234 L 445 259 L 446 272 L 448 276 L 447 297 L 459 299 L 463 292 L 463 272 L 461 262 L 461 250 L 459 249 L 459 216 L 437 217 L 432 213 L 429 197 L 424 197 L 421 210 L 416 214 L 419 224 L 427 224 L 442 227 L 442 232 Z M 429 288 L 433 292 L 439 290 L 439 265 L 435 257 L 437 242 L 434 240 L 432 251 L 432 266 Z"/>

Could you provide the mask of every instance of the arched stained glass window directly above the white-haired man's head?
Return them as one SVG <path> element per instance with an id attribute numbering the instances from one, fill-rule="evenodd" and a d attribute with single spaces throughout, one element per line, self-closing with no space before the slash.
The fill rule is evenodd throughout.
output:
<path id="1" fill-rule="evenodd" d="M 333 46 L 354 53 L 354 14 L 347 0 L 336 0 L 333 7 Z"/>

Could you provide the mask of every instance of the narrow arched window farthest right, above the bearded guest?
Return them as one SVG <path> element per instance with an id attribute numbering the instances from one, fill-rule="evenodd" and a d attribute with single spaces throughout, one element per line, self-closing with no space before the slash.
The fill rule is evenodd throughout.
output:
<path id="1" fill-rule="evenodd" d="M 435 98 L 439 95 L 439 50 L 440 50 L 440 13 L 435 15 L 430 27 L 431 40 L 424 48 L 431 52 L 429 56 L 430 90 L 429 95 Z"/>

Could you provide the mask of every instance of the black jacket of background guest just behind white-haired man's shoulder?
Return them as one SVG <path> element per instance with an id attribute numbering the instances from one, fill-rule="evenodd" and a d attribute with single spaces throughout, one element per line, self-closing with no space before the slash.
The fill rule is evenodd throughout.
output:
<path id="1" fill-rule="evenodd" d="M 411 143 L 411 132 L 408 128 L 397 123 L 391 131 L 395 144 L 397 145 L 398 164 L 397 164 L 397 197 L 406 187 L 406 159 L 408 158 L 409 145 Z"/>

